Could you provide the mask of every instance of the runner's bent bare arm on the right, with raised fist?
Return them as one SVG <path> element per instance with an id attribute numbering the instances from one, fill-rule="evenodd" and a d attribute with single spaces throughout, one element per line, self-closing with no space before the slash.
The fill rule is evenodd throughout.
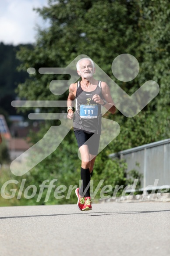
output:
<path id="1" fill-rule="evenodd" d="M 116 112 L 116 107 L 115 104 L 113 102 L 112 96 L 110 94 L 110 89 L 108 87 L 108 85 L 105 82 L 101 83 L 101 87 L 102 87 L 102 95 L 103 98 L 106 101 L 106 104 L 103 106 L 105 107 L 110 113 L 114 114 Z M 101 105 L 103 105 L 103 99 L 101 99 L 101 97 L 97 94 L 95 94 L 92 98 L 96 103 L 99 103 Z"/>

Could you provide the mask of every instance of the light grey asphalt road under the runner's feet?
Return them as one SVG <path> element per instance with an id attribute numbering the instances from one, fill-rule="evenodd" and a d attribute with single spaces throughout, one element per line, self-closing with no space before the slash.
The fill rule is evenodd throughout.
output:
<path id="1" fill-rule="evenodd" d="M 169 256 L 170 203 L 0 208 L 0 256 Z"/>

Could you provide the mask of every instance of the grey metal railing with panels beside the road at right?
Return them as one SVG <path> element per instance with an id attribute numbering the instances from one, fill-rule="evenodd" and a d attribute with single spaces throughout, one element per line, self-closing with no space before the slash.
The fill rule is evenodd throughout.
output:
<path id="1" fill-rule="evenodd" d="M 142 173 L 142 189 L 151 185 L 156 188 L 170 186 L 170 139 L 123 150 L 109 157 L 125 159 L 127 174 L 132 169 Z"/>

